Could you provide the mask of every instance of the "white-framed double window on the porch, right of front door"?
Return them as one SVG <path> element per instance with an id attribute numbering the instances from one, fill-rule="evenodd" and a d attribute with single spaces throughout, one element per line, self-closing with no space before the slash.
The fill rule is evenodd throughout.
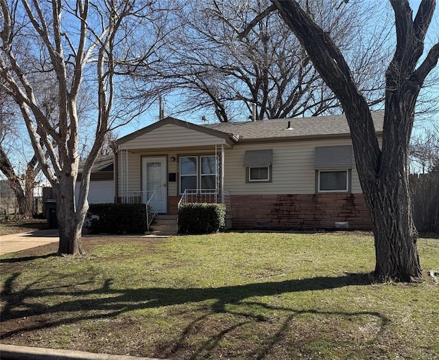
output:
<path id="1" fill-rule="evenodd" d="M 185 190 L 217 191 L 218 159 L 215 155 L 180 157 L 180 194 Z"/>

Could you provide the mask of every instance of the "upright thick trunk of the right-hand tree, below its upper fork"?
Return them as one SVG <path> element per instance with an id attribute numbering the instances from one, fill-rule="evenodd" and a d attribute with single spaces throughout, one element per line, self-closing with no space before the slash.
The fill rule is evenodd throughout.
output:
<path id="1" fill-rule="evenodd" d="M 410 281 L 422 275 L 412 217 L 409 185 L 409 146 L 414 108 L 420 87 L 402 84 L 398 67 L 390 65 L 385 91 L 385 114 L 381 166 L 370 213 L 375 223 L 375 277 Z M 394 91 L 398 89 L 398 91 Z"/>

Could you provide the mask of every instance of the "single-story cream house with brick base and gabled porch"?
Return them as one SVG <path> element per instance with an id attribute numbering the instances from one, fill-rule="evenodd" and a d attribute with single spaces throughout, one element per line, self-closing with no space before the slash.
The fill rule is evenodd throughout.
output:
<path id="1" fill-rule="evenodd" d="M 372 113 L 378 137 L 383 112 Z M 117 140 L 117 202 L 226 204 L 233 228 L 368 229 L 344 115 L 192 124 L 166 117 Z"/>

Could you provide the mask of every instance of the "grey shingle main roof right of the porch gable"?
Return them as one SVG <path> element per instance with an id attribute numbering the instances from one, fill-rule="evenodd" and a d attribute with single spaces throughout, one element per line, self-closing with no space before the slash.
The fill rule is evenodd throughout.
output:
<path id="1" fill-rule="evenodd" d="M 377 133 L 383 131 L 383 118 L 383 111 L 372 112 L 372 120 Z M 292 128 L 291 130 L 287 130 L 288 124 Z M 348 122 L 344 115 L 224 122 L 202 126 L 239 136 L 239 142 L 241 140 L 350 135 Z"/>

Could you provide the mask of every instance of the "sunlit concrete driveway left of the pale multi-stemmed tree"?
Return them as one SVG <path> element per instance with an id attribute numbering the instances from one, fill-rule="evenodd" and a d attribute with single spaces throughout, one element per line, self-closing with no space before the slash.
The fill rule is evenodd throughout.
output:
<path id="1" fill-rule="evenodd" d="M 49 243 L 58 243 L 60 236 L 58 229 L 43 229 L 36 232 L 23 232 L 0 236 L 0 255 L 30 249 Z"/>

